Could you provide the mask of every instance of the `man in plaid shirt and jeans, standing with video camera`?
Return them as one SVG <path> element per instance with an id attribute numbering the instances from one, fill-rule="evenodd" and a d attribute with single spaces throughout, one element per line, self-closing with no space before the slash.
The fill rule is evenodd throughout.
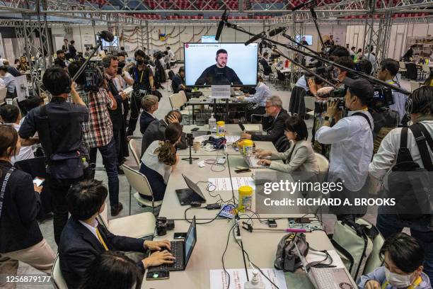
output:
<path id="1" fill-rule="evenodd" d="M 69 74 L 75 73 L 81 67 L 81 62 L 72 62 L 69 64 Z M 99 72 L 100 73 L 100 72 Z M 103 79 L 101 75 L 101 79 Z M 100 84 L 98 92 L 84 91 L 85 84 L 84 74 L 76 79 L 79 93 L 88 108 L 89 121 L 83 123 L 84 139 L 88 142 L 90 149 L 90 164 L 95 176 L 96 153 L 99 150 L 103 157 L 103 164 L 108 176 L 108 191 L 110 196 L 111 215 L 116 216 L 122 210 L 122 203 L 119 203 L 119 178 L 117 175 L 117 154 L 115 149 L 115 140 L 113 138 L 112 123 L 110 113 L 117 108 L 115 98 L 110 94 L 106 87 L 105 81 Z"/>

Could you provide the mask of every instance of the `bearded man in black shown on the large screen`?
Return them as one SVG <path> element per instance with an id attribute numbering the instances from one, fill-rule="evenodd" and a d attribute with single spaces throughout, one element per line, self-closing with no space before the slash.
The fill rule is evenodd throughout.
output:
<path id="1" fill-rule="evenodd" d="M 230 67 L 227 67 L 228 53 L 224 49 L 217 51 L 217 64 L 207 67 L 202 72 L 202 75 L 195 81 L 195 85 L 242 85 L 236 72 Z"/>

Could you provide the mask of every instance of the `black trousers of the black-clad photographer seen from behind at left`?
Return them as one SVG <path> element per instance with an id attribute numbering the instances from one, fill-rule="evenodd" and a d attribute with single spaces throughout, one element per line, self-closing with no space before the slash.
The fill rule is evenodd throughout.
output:
<path id="1" fill-rule="evenodd" d="M 52 192 L 52 211 L 54 212 L 53 225 L 54 225 L 54 240 L 58 245 L 60 236 L 64 226 L 66 225 L 69 217 L 68 204 L 66 200 L 69 188 L 75 183 L 78 183 L 83 177 L 78 179 L 54 179 L 47 175 L 50 183 L 50 190 Z"/>

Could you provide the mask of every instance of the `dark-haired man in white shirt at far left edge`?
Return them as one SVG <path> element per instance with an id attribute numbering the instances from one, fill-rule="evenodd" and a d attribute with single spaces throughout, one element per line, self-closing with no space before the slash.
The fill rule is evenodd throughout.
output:
<path id="1" fill-rule="evenodd" d="M 6 106 L 1 106 L 0 108 L 0 118 L 4 125 L 11 125 L 18 132 L 20 130 L 20 111 L 16 106 L 6 104 Z M 37 137 L 30 138 L 28 140 L 21 140 L 21 149 L 15 157 L 12 157 L 11 162 L 15 164 L 16 162 L 22 161 L 23 159 L 33 159 L 35 154 L 33 154 L 32 145 L 39 142 Z"/>

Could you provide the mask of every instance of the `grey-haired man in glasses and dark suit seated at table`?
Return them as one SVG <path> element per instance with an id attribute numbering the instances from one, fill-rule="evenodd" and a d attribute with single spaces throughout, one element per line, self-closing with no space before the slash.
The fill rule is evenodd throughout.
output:
<path id="1" fill-rule="evenodd" d="M 244 132 L 241 137 L 248 140 L 272 142 L 275 145 L 279 138 L 284 136 L 284 123 L 289 118 L 289 114 L 282 108 L 282 100 L 279 96 L 267 98 L 265 110 L 266 114 L 272 117 L 270 127 L 263 128 L 267 130 L 267 135 L 250 135 Z"/>

